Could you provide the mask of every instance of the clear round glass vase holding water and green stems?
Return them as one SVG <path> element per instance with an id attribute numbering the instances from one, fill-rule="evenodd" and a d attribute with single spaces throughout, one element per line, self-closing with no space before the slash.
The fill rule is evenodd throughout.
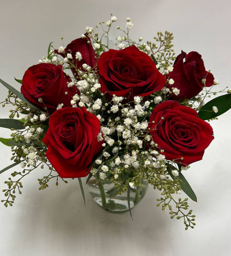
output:
<path id="1" fill-rule="evenodd" d="M 124 213 L 129 211 L 127 191 L 121 193 L 121 195 L 114 194 L 114 184 L 110 181 L 100 181 L 92 177 L 88 183 L 88 190 L 94 201 L 105 211 L 111 213 Z M 136 206 L 144 197 L 148 189 L 147 180 L 142 180 L 141 185 L 130 188 L 130 208 L 132 209 Z"/>

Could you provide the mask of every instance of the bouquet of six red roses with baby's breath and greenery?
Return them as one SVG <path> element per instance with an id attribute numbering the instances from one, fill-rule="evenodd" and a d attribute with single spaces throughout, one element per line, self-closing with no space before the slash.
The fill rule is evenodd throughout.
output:
<path id="1" fill-rule="evenodd" d="M 185 229 L 194 228 L 188 198 L 177 194 L 184 191 L 197 201 L 183 173 L 214 139 L 205 120 L 230 109 L 231 90 L 212 91 L 219 81 L 198 52 L 175 57 L 172 33 L 158 32 L 154 42 L 132 40 L 130 18 L 124 30 L 117 26 L 121 35 L 111 49 L 109 32 L 116 22 L 111 14 L 66 47 L 50 43 L 47 57 L 15 79 L 21 92 L 0 80 L 9 90 L 2 107 L 14 107 L 9 119 L 0 119 L 0 127 L 12 130 L 0 141 L 11 147 L 14 163 L 0 173 L 17 164 L 22 168 L 5 181 L 2 202 L 12 206 L 15 192 L 22 193 L 22 178 L 47 166 L 40 190 L 50 180 L 58 185 L 78 178 L 85 202 L 81 178 L 87 177 L 86 184 L 99 188 L 102 208 L 126 193 L 131 214 L 130 193 L 139 199 L 146 181 L 161 192 L 157 206 L 169 209 L 171 219 L 183 219 Z M 204 104 L 217 93 L 225 94 Z M 105 184 L 112 184 L 109 199 Z"/>

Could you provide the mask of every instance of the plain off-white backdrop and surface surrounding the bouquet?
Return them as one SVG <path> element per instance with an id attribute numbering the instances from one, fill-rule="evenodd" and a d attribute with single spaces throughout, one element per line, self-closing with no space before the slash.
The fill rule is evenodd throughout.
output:
<path id="1" fill-rule="evenodd" d="M 174 33 L 177 54 L 198 51 L 207 70 L 220 81 L 219 89 L 230 82 L 229 0 L 0 0 L 0 77 L 20 89 L 14 77 L 46 56 L 47 45 L 61 45 L 80 37 L 86 26 L 117 16 L 125 26 L 130 17 L 134 38 L 152 40 L 158 30 Z M 119 31 L 115 30 L 116 37 Z M 218 89 L 218 90 L 219 90 Z M 0 100 L 7 89 L 0 87 Z M 1 109 L 1 118 L 8 116 Z M 170 220 L 167 211 L 156 207 L 159 191 L 149 186 L 147 196 L 124 215 L 109 214 L 91 199 L 87 188 L 86 207 L 77 180 L 38 190 L 37 178 L 47 170 L 37 169 L 23 181 L 22 195 L 15 204 L 0 204 L 0 251 L 4 256 L 133 255 L 133 256 L 228 256 L 231 255 L 230 125 L 231 111 L 213 121 L 215 139 L 204 159 L 185 172 L 198 203 L 190 202 L 196 214 L 196 227 L 184 231 L 180 220 Z M 8 137 L 7 129 L 0 129 Z M 10 162 L 10 148 L 0 145 L 0 165 Z M 18 167 L 20 168 L 20 167 Z M 0 175 L 0 190 L 14 168 Z M 1 192 L 2 193 L 2 192 Z M 182 195 L 183 196 L 183 195 Z M 0 199 L 3 199 L 3 193 Z"/>

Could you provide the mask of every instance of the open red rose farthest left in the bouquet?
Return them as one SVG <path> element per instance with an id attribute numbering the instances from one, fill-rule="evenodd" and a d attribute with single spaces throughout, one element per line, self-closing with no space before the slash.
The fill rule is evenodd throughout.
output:
<path id="1" fill-rule="evenodd" d="M 68 82 L 71 80 L 62 71 L 61 65 L 41 63 L 29 67 L 25 72 L 21 92 L 30 102 L 43 108 L 45 105 L 48 112 L 52 113 L 58 104 L 71 106 L 70 101 L 78 90 L 76 87 L 68 88 Z M 65 92 L 68 94 L 65 95 Z M 43 102 L 39 102 L 39 98 L 42 98 Z"/>

